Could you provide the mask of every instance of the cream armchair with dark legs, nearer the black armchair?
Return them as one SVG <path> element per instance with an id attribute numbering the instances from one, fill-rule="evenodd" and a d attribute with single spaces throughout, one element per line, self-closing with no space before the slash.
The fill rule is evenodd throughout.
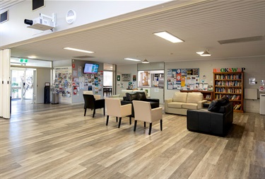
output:
<path id="1" fill-rule="evenodd" d="M 105 98 L 106 101 L 106 108 L 107 108 L 107 121 L 106 125 L 109 122 L 109 117 L 114 116 L 119 117 L 119 125 L 118 128 L 121 126 L 122 117 L 129 116 L 130 125 L 131 125 L 131 104 L 128 105 L 121 105 L 121 101 L 119 98 Z"/>

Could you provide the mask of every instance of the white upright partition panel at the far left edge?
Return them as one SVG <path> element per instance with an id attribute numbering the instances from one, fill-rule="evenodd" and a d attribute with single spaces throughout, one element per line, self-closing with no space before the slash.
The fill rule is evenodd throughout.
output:
<path id="1" fill-rule="evenodd" d="M 1 50 L 1 117 L 10 118 L 10 92 L 11 92 L 11 79 L 10 79 L 10 57 L 11 50 Z"/>

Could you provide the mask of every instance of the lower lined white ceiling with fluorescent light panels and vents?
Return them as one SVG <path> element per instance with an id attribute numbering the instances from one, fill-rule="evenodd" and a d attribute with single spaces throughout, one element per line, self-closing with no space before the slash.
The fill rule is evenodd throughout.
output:
<path id="1" fill-rule="evenodd" d="M 158 11 L 159 10 L 159 11 Z M 129 16 L 131 15 L 131 16 Z M 117 21 L 119 20 L 119 21 Z M 167 30 L 184 40 L 172 43 L 153 35 Z M 265 57 L 265 0 L 201 1 L 179 6 L 170 1 L 53 35 L 11 45 L 11 57 L 35 55 L 38 59 L 78 59 L 109 64 L 136 64 L 125 57 L 149 62 L 179 62 L 235 57 Z M 218 40 L 263 36 L 263 40 L 220 45 Z M 63 47 L 94 51 L 72 52 Z M 196 52 L 208 50 L 211 57 Z"/>

